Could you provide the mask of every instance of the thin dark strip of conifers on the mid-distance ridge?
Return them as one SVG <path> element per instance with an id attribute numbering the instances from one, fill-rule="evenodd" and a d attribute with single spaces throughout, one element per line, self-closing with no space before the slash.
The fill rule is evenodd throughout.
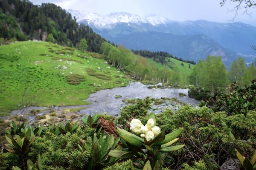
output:
<path id="1" fill-rule="evenodd" d="M 163 65 L 166 64 L 166 62 L 168 61 L 168 58 L 174 58 L 179 61 L 188 62 L 188 63 L 194 64 L 194 65 L 196 64 L 194 61 L 178 58 L 178 57 L 173 56 L 172 54 L 169 54 L 169 53 L 163 52 L 163 51 L 153 51 L 153 52 L 148 51 L 148 50 L 131 50 L 131 51 L 134 52 L 134 54 L 136 54 L 136 55 L 141 55 L 143 57 L 152 58 L 154 61 L 160 62 Z M 166 61 L 166 58 L 167 58 L 167 61 Z"/>

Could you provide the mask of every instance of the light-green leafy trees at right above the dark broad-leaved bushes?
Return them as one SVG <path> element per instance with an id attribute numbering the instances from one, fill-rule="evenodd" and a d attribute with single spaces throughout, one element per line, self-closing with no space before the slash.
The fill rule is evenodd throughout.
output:
<path id="1" fill-rule="evenodd" d="M 195 85 L 198 92 L 218 94 L 227 90 L 227 85 L 237 82 L 239 85 L 248 85 L 256 79 L 256 60 L 246 66 L 244 58 L 234 60 L 230 71 L 227 71 L 221 57 L 208 56 L 199 60 L 190 76 L 190 83 Z"/>

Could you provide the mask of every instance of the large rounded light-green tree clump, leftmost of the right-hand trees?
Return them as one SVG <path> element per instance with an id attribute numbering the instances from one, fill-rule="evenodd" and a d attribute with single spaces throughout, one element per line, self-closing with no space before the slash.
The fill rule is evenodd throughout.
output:
<path id="1" fill-rule="evenodd" d="M 206 60 L 199 60 L 192 71 L 190 82 L 210 93 L 224 91 L 228 83 L 228 74 L 221 57 L 208 56 Z"/>

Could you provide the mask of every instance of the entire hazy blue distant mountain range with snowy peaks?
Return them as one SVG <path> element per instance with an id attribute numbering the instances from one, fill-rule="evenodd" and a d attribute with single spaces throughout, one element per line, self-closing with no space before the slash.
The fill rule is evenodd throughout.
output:
<path id="1" fill-rule="evenodd" d="M 237 56 L 245 57 L 247 62 L 256 56 L 250 48 L 256 45 L 256 27 L 241 22 L 180 22 L 159 15 L 102 15 L 71 9 L 68 12 L 107 40 L 130 49 L 166 51 L 196 62 L 207 55 L 221 55 L 227 66 Z"/>

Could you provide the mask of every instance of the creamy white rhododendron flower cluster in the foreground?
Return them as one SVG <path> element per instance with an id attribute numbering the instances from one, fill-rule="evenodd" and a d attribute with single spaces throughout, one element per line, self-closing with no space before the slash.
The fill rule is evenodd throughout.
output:
<path id="1" fill-rule="evenodd" d="M 154 139 L 160 133 L 160 127 L 156 126 L 156 122 L 153 119 L 149 119 L 145 126 L 139 119 L 132 119 L 130 126 L 130 130 L 134 133 L 141 133 L 140 136 L 147 141 Z"/>

